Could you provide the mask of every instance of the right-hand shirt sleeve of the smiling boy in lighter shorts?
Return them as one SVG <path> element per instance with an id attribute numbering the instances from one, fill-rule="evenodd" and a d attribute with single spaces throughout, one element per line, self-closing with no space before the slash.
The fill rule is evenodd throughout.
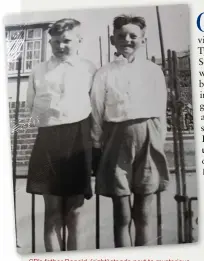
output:
<path id="1" fill-rule="evenodd" d="M 157 73 L 156 85 L 158 90 L 158 99 L 160 103 L 159 108 L 161 111 L 160 122 L 161 122 L 161 134 L 162 140 L 166 139 L 167 123 L 166 123 L 166 109 L 167 109 L 167 86 L 163 71 L 159 68 Z"/>

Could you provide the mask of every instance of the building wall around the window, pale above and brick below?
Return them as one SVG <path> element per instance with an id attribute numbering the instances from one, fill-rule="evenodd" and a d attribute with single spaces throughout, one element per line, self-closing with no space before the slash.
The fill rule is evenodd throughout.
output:
<path id="1" fill-rule="evenodd" d="M 47 60 L 51 55 L 48 44 L 47 30 L 43 31 L 44 42 L 42 48 L 42 60 Z M 30 112 L 26 107 L 26 93 L 29 74 L 21 77 L 19 96 L 19 123 L 15 124 L 17 77 L 8 77 L 7 94 L 10 116 L 11 154 L 13 156 L 14 130 L 17 130 L 17 165 L 28 165 L 30 154 L 35 142 L 37 128 L 30 124 Z"/>

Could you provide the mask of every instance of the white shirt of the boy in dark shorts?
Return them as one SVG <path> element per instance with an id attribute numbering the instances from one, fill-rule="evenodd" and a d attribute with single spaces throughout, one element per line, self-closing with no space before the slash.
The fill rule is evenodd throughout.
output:
<path id="1" fill-rule="evenodd" d="M 61 62 L 52 56 L 30 75 L 27 105 L 36 126 L 81 121 L 91 113 L 89 92 L 94 66 L 78 56 Z"/>

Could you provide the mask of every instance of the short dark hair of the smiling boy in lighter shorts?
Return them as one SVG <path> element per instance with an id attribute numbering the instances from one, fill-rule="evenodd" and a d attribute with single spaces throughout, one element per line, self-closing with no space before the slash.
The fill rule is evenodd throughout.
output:
<path id="1" fill-rule="evenodd" d="M 145 34 L 145 30 L 146 30 L 145 19 L 140 16 L 131 16 L 131 15 L 116 16 L 113 20 L 113 32 L 121 29 L 121 27 L 126 24 L 135 24 L 139 26 L 139 28 L 143 31 L 143 34 Z"/>

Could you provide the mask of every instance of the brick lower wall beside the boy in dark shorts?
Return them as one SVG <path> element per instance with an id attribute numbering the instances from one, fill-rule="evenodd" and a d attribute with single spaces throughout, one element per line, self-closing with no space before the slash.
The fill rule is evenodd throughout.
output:
<path id="1" fill-rule="evenodd" d="M 11 133 L 11 149 L 13 156 L 13 133 L 17 130 L 17 165 L 27 165 L 30 154 L 33 148 L 33 144 L 37 134 L 37 128 L 29 124 L 30 113 L 26 108 L 25 102 L 20 102 L 19 106 L 19 124 L 15 126 L 15 110 L 16 103 L 9 103 L 9 115 L 10 115 L 10 133 Z"/>

